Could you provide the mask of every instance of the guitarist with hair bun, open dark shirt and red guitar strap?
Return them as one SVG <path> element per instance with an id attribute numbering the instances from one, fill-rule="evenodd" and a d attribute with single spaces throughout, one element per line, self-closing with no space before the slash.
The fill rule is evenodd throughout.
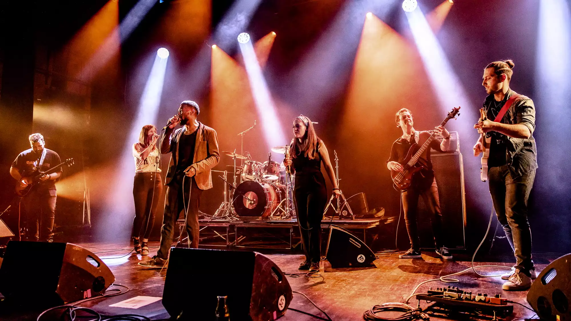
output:
<path id="1" fill-rule="evenodd" d="M 536 278 L 528 198 L 537 168 L 537 150 L 532 135 L 535 106 L 530 98 L 509 88 L 513 66 L 511 60 L 494 61 L 484 69 L 482 86 L 488 94 L 484 101 L 487 115 L 474 128 L 492 138 L 486 173 L 490 194 L 498 222 L 516 256 L 512 271 L 502 275 L 502 279 L 508 280 L 502 288 L 521 291 L 527 290 Z M 474 145 L 474 156 L 480 155 L 482 150 L 480 136 Z"/>

